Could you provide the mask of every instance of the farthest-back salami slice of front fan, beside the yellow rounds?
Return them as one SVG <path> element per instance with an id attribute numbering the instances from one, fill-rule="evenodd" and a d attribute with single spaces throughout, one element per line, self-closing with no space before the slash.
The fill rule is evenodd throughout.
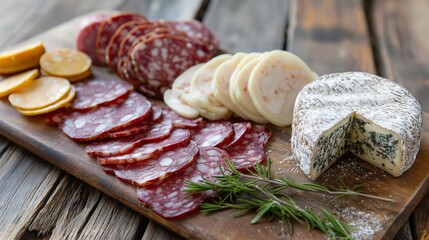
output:
<path id="1" fill-rule="evenodd" d="M 119 98 L 125 98 L 133 86 L 127 81 L 116 77 L 97 76 L 74 84 L 76 97 L 72 109 L 90 110 L 92 108 L 109 105 Z"/>

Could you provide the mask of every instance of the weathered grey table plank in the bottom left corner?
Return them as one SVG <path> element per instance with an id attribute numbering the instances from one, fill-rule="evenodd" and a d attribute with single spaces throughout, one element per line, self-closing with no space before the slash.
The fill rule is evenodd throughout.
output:
<path id="1" fill-rule="evenodd" d="M 0 166 L 0 236 L 19 238 L 61 171 L 16 145 L 0 157 Z"/>

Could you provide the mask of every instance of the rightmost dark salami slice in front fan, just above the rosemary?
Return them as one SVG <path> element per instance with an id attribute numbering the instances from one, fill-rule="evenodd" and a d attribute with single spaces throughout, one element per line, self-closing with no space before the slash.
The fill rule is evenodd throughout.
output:
<path id="1" fill-rule="evenodd" d="M 241 143 L 228 148 L 231 161 L 238 170 L 253 168 L 265 161 L 264 146 L 271 137 L 271 130 L 263 125 L 253 125 Z"/>

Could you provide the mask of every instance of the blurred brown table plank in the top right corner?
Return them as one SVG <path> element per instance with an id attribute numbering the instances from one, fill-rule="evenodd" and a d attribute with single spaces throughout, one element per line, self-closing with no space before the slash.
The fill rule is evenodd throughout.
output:
<path id="1" fill-rule="evenodd" d="M 373 4 L 381 74 L 409 89 L 423 111 L 429 111 L 429 2 L 393 0 Z"/>

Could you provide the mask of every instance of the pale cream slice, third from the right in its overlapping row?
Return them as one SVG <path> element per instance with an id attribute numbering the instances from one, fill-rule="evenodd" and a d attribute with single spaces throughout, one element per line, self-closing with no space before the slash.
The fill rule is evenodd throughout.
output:
<path id="1" fill-rule="evenodd" d="M 229 84 L 232 73 L 246 55 L 246 53 L 236 53 L 231 59 L 221 63 L 216 68 L 212 83 L 212 91 L 216 99 L 243 119 L 247 119 L 247 117 L 232 102 L 229 94 Z"/>

